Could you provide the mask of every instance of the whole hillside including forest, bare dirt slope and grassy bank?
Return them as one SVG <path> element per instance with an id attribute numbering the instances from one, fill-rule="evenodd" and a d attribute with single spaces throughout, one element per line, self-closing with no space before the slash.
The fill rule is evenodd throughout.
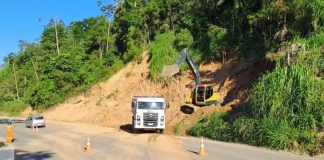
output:
<path id="1" fill-rule="evenodd" d="M 101 16 L 69 25 L 53 18 L 39 41 L 20 41 L 5 57 L 0 114 L 29 108 L 127 129 L 131 97 L 161 95 L 170 103 L 168 133 L 324 152 L 322 0 L 97 4 Z M 183 48 L 221 106 L 180 112 L 193 84 L 188 66 L 170 82 L 160 74 Z"/>

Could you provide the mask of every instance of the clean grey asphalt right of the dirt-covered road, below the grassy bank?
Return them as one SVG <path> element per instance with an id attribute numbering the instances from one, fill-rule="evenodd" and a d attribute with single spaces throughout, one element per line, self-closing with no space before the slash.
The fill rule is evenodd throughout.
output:
<path id="1" fill-rule="evenodd" d="M 274 151 L 244 144 L 204 140 L 206 156 L 198 156 L 200 139 L 179 137 L 190 157 L 200 160 L 324 160 L 324 155 L 310 157 L 290 152 Z"/>

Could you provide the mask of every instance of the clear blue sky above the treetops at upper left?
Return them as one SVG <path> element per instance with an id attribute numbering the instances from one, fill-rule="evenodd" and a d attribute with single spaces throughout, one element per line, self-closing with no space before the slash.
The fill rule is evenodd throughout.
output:
<path id="1" fill-rule="evenodd" d="M 52 17 L 69 25 L 99 15 L 97 0 L 0 0 L 0 65 L 19 51 L 19 40 L 36 42 Z"/>

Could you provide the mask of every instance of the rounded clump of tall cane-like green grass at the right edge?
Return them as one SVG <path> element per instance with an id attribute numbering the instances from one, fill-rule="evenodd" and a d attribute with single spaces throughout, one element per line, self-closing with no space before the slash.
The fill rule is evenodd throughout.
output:
<path id="1" fill-rule="evenodd" d="M 323 87 L 306 67 L 277 67 L 252 89 L 248 113 L 254 118 L 273 117 L 299 129 L 315 130 L 324 114 Z"/>

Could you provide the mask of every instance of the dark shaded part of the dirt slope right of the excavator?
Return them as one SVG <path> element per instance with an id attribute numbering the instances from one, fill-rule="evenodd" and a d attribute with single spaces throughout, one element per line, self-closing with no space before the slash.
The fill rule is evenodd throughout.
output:
<path id="1" fill-rule="evenodd" d="M 205 78 L 202 84 L 218 85 L 215 91 L 220 92 L 225 87 L 226 82 L 230 81 L 233 87 L 227 91 L 223 99 L 222 106 L 225 106 L 235 99 L 245 99 L 247 91 L 252 85 L 264 73 L 271 71 L 274 67 L 275 64 L 267 60 L 230 61 L 216 71 L 201 72 L 201 76 Z"/>

